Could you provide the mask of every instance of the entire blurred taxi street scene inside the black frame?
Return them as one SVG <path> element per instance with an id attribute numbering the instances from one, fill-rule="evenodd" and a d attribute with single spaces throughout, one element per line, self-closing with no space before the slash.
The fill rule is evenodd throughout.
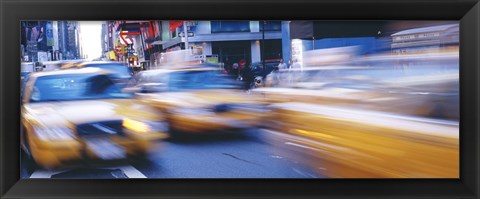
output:
<path id="1" fill-rule="evenodd" d="M 21 177 L 458 178 L 459 30 L 22 21 Z"/>

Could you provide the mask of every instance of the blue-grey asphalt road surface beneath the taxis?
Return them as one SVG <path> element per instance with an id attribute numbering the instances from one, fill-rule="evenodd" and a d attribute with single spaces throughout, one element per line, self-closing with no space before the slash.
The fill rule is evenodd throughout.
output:
<path id="1" fill-rule="evenodd" d="M 259 130 L 159 141 L 145 159 L 47 171 L 22 163 L 23 178 L 321 178 L 277 154 Z M 22 160 L 25 160 L 22 158 Z"/>

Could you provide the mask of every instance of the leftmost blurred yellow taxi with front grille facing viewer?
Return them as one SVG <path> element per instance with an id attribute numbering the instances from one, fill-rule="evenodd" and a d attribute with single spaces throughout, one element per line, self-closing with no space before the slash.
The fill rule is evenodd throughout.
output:
<path id="1" fill-rule="evenodd" d="M 110 74 L 84 68 L 30 75 L 21 141 L 39 166 L 143 156 L 155 140 L 168 137 L 164 117 L 122 93 Z"/>

